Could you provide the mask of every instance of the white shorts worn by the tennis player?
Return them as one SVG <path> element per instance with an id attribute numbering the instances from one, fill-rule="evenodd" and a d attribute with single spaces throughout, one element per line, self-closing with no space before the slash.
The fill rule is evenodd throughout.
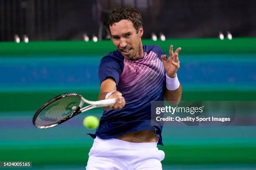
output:
<path id="1" fill-rule="evenodd" d="M 86 170 L 162 170 L 164 151 L 156 143 L 94 139 Z"/>

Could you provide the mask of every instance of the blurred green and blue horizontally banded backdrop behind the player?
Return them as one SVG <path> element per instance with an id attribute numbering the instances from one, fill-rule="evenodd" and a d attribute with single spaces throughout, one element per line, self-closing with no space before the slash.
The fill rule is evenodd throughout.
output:
<path id="1" fill-rule="evenodd" d="M 182 100 L 256 100 L 256 38 L 144 40 L 182 47 Z M 0 42 L 0 161 L 32 161 L 32 169 L 84 169 L 92 138 L 83 127 L 91 110 L 46 130 L 34 112 L 52 97 L 77 92 L 97 100 L 100 59 L 115 50 L 99 42 Z M 255 126 L 165 126 L 164 169 L 256 169 Z M 31 169 L 31 168 L 30 168 Z"/>

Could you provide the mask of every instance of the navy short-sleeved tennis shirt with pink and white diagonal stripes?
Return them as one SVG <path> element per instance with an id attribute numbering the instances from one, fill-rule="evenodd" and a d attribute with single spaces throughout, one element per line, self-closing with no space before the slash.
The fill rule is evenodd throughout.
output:
<path id="1" fill-rule="evenodd" d="M 102 139 L 115 138 L 128 132 L 155 130 L 159 135 L 162 126 L 151 126 L 151 101 L 162 101 L 165 70 L 161 61 L 164 52 L 156 45 L 143 45 L 144 56 L 137 60 L 124 58 L 118 50 L 103 57 L 99 66 L 100 82 L 112 78 L 117 90 L 125 98 L 120 110 L 104 110 L 96 135 Z"/>

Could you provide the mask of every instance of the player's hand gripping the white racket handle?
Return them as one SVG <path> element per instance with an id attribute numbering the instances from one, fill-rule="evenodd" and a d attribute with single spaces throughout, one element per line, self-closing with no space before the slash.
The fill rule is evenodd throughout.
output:
<path id="1" fill-rule="evenodd" d="M 113 105 L 102 107 L 104 110 L 108 110 L 108 109 L 117 110 L 117 109 L 121 109 L 125 106 L 125 99 L 124 99 L 124 97 L 122 97 L 122 93 L 115 91 L 107 99 L 112 99 L 112 98 L 115 98 L 116 103 Z"/>

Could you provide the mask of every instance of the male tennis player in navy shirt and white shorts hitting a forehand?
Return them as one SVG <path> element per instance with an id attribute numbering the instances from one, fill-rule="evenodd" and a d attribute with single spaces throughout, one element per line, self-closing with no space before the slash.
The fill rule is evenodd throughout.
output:
<path id="1" fill-rule="evenodd" d="M 161 170 L 162 126 L 151 126 L 151 101 L 181 99 L 178 53 L 170 57 L 156 45 L 142 45 L 141 15 L 131 7 L 111 11 L 108 25 L 117 50 L 99 66 L 99 100 L 115 98 L 104 107 L 89 153 L 87 170 Z"/>

